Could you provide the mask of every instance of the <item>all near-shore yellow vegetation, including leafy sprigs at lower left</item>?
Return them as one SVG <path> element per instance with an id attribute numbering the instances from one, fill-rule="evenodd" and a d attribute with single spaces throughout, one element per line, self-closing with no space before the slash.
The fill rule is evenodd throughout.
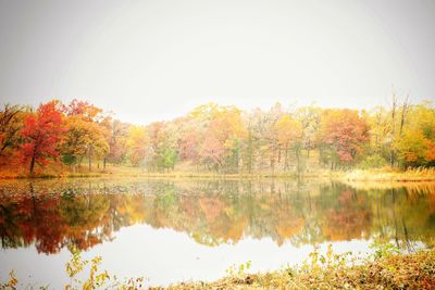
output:
<path id="1" fill-rule="evenodd" d="M 393 245 L 385 245 L 363 260 L 350 253 L 325 254 L 314 251 L 303 264 L 276 272 L 248 274 L 250 263 L 233 266 L 228 276 L 212 282 L 188 281 L 169 287 L 150 287 L 147 279 L 126 278 L 100 270 L 101 257 L 83 261 L 79 252 L 73 252 L 65 270 L 71 277 L 65 289 L 435 289 L 435 250 L 400 253 Z M 76 275 L 90 267 L 85 280 Z M 12 270 L 9 280 L 0 282 L 0 289 L 20 289 L 23 285 Z M 48 289 L 34 287 L 30 289 Z"/>

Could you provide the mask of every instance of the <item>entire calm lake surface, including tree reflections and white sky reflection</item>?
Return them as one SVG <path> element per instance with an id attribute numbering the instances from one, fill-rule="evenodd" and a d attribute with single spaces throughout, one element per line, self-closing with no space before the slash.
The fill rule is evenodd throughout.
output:
<path id="1" fill-rule="evenodd" d="M 117 277 L 212 280 L 307 259 L 318 244 L 365 253 L 374 240 L 433 244 L 435 190 L 325 181 L 72 180 L 0 184 L 0 279 L 60 288 L 70 244 Z"/>

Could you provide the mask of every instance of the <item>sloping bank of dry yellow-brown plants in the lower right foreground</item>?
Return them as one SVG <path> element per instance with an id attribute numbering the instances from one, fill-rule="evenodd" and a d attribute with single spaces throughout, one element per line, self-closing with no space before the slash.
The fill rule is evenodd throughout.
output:
<path id="1" fill-rule="evenodd" d="M 229 275 L 213 282 L 172 285 L 171 290 L 191 289 L 435 289 L 435 251 L 387 254 L 361 264 L 316 253 L 299 267 L 265 274 Z"/>

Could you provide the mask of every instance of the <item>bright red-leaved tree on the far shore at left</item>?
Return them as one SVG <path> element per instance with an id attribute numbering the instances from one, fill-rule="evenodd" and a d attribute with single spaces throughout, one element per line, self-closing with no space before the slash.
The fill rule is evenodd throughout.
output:
<path id="1" fill-rule="evenodd" d="M 63 131 L 62 113 L 57 101 L 40 104 L 35 114 L 25 118 L 21 133 L 24 139 L 21 152 L 22 162 L 29 164 L 30 174 L 35 164 L 44 166 L 49 157 L 58 156 L 58 144 Z"/>

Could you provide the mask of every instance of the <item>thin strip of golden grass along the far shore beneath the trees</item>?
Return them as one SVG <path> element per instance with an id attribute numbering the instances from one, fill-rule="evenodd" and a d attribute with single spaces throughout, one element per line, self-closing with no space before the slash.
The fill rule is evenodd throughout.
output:
<path id="1" fill-rule="evenodd" d="M 1 169 L 0 179 L 18 179 L 18 178 L 94 178 L 94 177 L 142 177 L 142 178 L 220 178 L 220 179 L 261 179 L 261 178 L 332 178 L 346 182 L 408 182 L 408 181 L 435 181 L 435 168 L 415 168 L 408 171 L 399 171 L 393 168 L 382 169 L 353 169 L 347 172 L 318 169 L 309 173 L 300 174 L 294 172 L 284 173 L 240 173 L 224 174 L 212 172 L 146 172 L 137 167 L 113 166 L 109 165 L 105 169 L 95 168 L 88 171 L 86 167 L 72 172 L 70 167 L 58 166 L 48 167 L 45 171 L 37 171 L 33 175 L 28 175 L 23 168 Z"/>

